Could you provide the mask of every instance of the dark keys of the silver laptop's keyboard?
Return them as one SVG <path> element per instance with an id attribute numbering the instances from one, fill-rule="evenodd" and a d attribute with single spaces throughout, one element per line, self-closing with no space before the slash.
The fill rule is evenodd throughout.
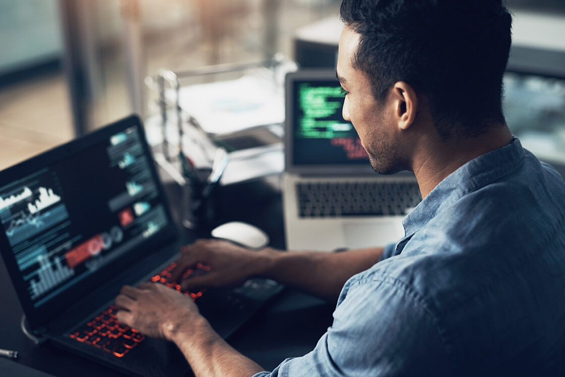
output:
<path id="1" fill-rule="evenodd" d="M 421 201 L 414 182 L 297 183 L 301 217 L 404 215 Z"/>

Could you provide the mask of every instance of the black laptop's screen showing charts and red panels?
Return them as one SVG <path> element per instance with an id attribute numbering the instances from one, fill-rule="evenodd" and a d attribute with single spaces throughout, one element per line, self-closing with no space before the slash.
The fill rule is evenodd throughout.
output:
<path id="1" fill-rule="evenodd" d="M 0 245 L 24 306 L 41 311 L 169 226 L 152 164 L 132 117 L 2 172 Z"/>

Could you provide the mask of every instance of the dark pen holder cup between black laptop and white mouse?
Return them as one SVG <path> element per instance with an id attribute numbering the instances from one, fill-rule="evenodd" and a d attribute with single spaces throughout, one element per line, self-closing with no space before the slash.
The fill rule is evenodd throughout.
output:
<path id="1" fill-rule="evenodd" d="M 202 181 L 187 180 L 182 187 L 182 226 L 188 229 L 205 229 L 214 221 L 214 198 L 210 185 Z"/>

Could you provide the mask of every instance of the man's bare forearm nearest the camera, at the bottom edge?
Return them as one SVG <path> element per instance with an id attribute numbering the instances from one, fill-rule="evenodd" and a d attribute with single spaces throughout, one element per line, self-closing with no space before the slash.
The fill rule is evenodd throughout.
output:
<path id="1" fill-rule="evenodd" d="M 196 377 L 250 377 L 264 370 L 221 339 L 206 319 L 199 317 L 196 322 L 181 324 L 167 335 L 184 354 Z"/>

